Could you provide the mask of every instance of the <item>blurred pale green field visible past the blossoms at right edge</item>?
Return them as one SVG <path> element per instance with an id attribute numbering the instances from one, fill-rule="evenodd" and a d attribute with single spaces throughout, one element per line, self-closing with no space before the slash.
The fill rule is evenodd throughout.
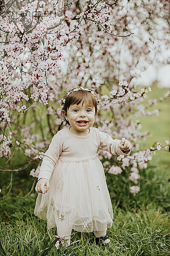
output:
<path id="1" fill-rule="evenodd" d="M 163 97 L 168 88 L 159 88 L 157 85 L 151 86 L 151 92 L 147 93 L 147 97 L 142 103 L 144 106 L 148 104 L 149 99 L 157 99 Z M 165 140 L 170 141 L 170 98 L 164 102 L 158 103 L 156 106 L 152 106 L 148 111 L 159 109 L 159 116 L 139 116 L 137 118 L 130 118 L 135 122 L 139 120 L 142 128 L 141 132 L 149 131 L 150 136 L 146 140 L 139 142 L 139 149 L 150 148 L 155 142 L 160 142 L 162 146 L 165 145 Z M 169 174 L 170 171 L 170 152 L 165 149 L 156 150 L 156 154 L 153 155 L 153 159 L 149 161 L 148 166 L 157 166 L 160 169 L 162 175 Z"/>

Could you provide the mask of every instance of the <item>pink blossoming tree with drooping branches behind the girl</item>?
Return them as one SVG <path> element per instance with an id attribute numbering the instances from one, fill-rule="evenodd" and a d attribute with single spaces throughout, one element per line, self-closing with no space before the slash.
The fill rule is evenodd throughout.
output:
<path id="1" fill-rule="evenodd" d="M 168 49 L 170 43 L 168 1 L 2 0 L 0 6 L 0 157 L 9 165 L 0 166 L 0 171 L 11 173 L 8 192 L 2 198 L 11 191 L 13 173 L 37 163 L 37 169 L 30 172 L 35 178 L 28 195 L 31 193 L 50 143 L 43 130 L 47 128 L 52 137 L 65 127 L 59 100 L 79 86 L 92 88 L 99 97 L 96 127 L 132 143 L 130 156 L 99 151 L 99 158 L 108 173 L 127 170 L 130 184 L 135 184 L 130 193 L 136 195 L 140 169 L 147 168 L 157 150 L 170 151 L 168 140 L 163 146 L 157 142 L 139 151 L 138 142 L 149 133 L 139 131 L 138 120 L 128 119 L 159 115 L 159 110 L 149 111 L 157 99 L 148 101 L 147 107 L 142 105 L 151 88 L 139 89 L 136 79 L 154 61 L 169 64 L 160 57 L 162 46 Z M 168 90 L 159 101 L 169 96 Z M 38 116 L 37 102 L 45 105 L 48 127 Z M 26 125 L 30 111 L 34 118 Z M 34 129 L 35 122 L 40 124 L 40 133 Z M 29 160 L 15 168 L 12 156 L 21 148 Z"/>

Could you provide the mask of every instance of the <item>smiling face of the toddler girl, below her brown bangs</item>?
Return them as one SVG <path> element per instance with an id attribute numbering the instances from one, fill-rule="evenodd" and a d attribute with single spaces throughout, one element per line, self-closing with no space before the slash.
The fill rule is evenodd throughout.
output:
<path id="1" fill-rule="evenodd" d="M 82 106 L 82 102 L 80 102 L 79 105 L 70 105 L 65 113 L 65 119 L 70 123 L 70 130 L 74 134 L 83 136 L 87 134 L 86 130 L 94 124 L 96 114 L 94 107 L 89 107 L 85 102 Z"/>

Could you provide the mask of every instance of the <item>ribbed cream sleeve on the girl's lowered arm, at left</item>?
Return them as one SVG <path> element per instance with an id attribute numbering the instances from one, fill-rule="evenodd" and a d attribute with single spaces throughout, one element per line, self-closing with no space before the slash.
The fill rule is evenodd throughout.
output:
<path id="1" fill-rule="evenodd" d="M 44 154 L 45 156 L 41 163 L 38 180 L 40 180 L 40 178 L 50 179 L 54 166 L 62 152 L 62 144 L 62 136 L 59 133 L 55 134 Z"/>

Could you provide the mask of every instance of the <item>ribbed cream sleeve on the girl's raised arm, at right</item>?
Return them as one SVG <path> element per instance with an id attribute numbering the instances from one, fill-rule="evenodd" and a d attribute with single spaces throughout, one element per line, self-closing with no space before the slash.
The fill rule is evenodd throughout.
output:
<path id="1" fill-rule="evenodd" d="M 99 149 L 108 151 L 114 155 L 129 155 L 131 153 L 131 149 L 124 153 L 118 146 L 120 141 L 121 140 L 117 139 L 113 140 L 109 134 L 99 131 Z"/>

